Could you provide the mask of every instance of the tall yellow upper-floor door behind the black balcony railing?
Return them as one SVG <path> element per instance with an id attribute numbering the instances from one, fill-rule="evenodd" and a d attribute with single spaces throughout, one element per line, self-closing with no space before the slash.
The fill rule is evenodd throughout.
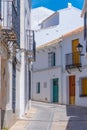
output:
<path id="1" fill-rule="evenodd" d="M 78 64 L 80 63 L 80 55 L 77 51 L 77 45 L 79 44 L 79 39 L 75 39 L 72 41 L 72 53 L 73 53 L 73 63 Z"/>

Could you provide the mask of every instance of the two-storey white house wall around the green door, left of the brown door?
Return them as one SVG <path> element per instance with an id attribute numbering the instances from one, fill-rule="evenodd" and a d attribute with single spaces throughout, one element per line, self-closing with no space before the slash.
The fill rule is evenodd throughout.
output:
<path id="1" fill-rule="evenodd" d="M 61 103 L 61 58 L 60 46 L 57 43 L 54 46 L 42 47 L 37 49 L 36 62 L 33 64 L 32 74 L 32 99 L 44 102 L 53 102 L 52 80 L 58 79 L 58 102 Z M 55 64 L 49 60 L 49 53 L 55 53 Z M 51 57 L 52 59 L 54 57 Z M 50 66 L 49 66 L 50 65 Z M 40 83 L 40 92 L 37 92 L 37 84 Z"/>

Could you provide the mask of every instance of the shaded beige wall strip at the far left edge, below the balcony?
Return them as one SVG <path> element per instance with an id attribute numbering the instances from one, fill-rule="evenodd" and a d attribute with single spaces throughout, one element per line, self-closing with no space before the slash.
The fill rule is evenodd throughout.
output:
<path id="1" fill-rule="evenodd" d="M 0 77 L 1 77 L 1 91 L 0 91 L 0 108 L 1 108 L 1 128 L 5 123 L 5 112 L 7 103 L 7 60 L 0 57 Z"/>

